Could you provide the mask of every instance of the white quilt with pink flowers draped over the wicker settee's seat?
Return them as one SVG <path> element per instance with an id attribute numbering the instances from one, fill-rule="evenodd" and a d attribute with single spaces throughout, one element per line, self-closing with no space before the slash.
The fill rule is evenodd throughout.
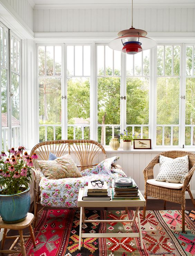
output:
<path id="1" fill-rule="evenodd" d="M 126 177 L 126 174 L 119 169 L 114 169 L 111 175 L 106 173 L 94 174 L 83 171 L 79 178 L 66 178 L 52 180 L 41 177 L 41 205 L 52 207 L 77 207 L 78 191 L 80 188 L 88 185 L 89 181 L 101 180 L 106 181 L 109 187 L 112 187 L 114 180 L 118 177 Z"/>

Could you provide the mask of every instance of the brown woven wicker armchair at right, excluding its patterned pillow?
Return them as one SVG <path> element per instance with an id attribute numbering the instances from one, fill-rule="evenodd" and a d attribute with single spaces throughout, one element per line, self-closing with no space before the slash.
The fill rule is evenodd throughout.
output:
<path id="1" fill-rule="evenodd" d="M 189 172 L 185 178 L 182 188 L 172 189 L 172 188 L 166 188 L 164 186 L 156 186 L 156 185 L 148 183 L 148 180 L 154 179 L 153 168 L 156 164 L 159 163 L 160 155 L 171 157 L 171 158 L 188 155 Z M 195 170 L 195 154 L 192 152 L 186 152 L 186 151 L 180 151 L 180 150 L 166 151 L 166 152 L 158 154 L 148 164 L 148 166 L 143 170 L 144 179 L 145 179 L 145 199 L 146 199 L 146 201 L 147 201 L 148 196 L 162 199 L 165 201 L 164 209 L 166 209 L 166 201 L 181 204 L 181 207 L 182 207 L 182 231 L 185 231 L 185 191 L 188 191 L 188 193 L 192 199 L 192 203 L 194 204 L 194 207 L 195 207 L 195 200 L 194 200 L 191 190 L 189 188 L 189 182 L 192 178 L 194 170 Z M 146 207 L 143 208 L 143 218 L 145 218 L 145 214 L 146 214 Z"/>

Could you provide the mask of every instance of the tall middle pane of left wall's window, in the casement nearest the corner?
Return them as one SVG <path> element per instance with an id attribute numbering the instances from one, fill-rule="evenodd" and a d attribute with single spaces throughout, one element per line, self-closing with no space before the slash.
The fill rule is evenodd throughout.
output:
<path id="1" fill-rule="evenodd" d="M 11 73 L 11 124 L 20 125 L 19 75 Z"/>

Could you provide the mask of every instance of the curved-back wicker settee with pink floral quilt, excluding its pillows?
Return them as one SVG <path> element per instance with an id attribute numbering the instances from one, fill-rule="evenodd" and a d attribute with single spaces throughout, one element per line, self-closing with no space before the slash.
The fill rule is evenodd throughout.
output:
<path id="1" fill-rule="evenodd" d="M 97 173 L 89 168 L 107 158 L 104 147 L 94 140 L 52 140 L 38 143 L 30 155 L 38 155 L 38 160 L 48 160 L 49 153 L 58 157 L 70 154 L 82 177 L 52 180 L 47 179 L 35 164 L 34 169 L 34 226 L 37 222 L 38 205 L 43 207 L 77 207 L 77 195 L 80 188 L 92 180 L 104 180 L 111 186 L 119 176 L 126 176 L 122 167 L 112 164 L 111 174 Z M 87 169 L 87 170 L 86 170 Z M 86 170 L 86 171 L 85 171 Z"/>

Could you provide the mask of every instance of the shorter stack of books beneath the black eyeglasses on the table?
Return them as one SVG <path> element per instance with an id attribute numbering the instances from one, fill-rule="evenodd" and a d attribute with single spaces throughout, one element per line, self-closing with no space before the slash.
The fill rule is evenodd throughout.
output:
<path id="1" fill-rule="evenodd" d="M 111 200 L 110 189 L 108 188 L 107 182 L 104 182 L 103 186 L 93 186 L 91 182 L 88 182 L 88 186 L 84 187 L 83 198 L 84 201 L 109 201 Z"/>

